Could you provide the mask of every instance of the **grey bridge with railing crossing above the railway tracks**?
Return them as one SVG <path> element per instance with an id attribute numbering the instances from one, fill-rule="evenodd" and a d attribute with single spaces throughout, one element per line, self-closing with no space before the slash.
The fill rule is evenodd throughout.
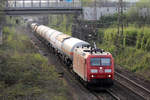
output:
<path id="1" fill-rule="evenodd" d="M 81 0 L 7 0 L 7 15 L 82 13 Z"/>

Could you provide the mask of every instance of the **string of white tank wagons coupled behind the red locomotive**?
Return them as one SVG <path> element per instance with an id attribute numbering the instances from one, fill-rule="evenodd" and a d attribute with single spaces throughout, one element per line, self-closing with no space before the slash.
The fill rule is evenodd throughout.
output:
<path id="1" fill-rule="evenodd" d="M 89 45 L 89 43 L 73 38 L 62 32 L 56 31 L 44 25 L 38 25 L 36 23 L 31 24 L 31 28 L 46 40 L 56 53 L 61 53 L 62 57 L 68 64 L 71 64 L 73 60 L 73 50 L 75 47 L 83 45 Z"/>

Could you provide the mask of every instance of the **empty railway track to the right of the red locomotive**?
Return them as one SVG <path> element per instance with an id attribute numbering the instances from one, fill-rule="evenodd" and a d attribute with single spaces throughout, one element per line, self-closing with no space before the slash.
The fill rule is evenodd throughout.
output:
<path id="1" fill-rule="evenodd" d="M 131 79 L 127 78 L 126 76 L 115 72 L 115 80 L 121 84 L 122 86 L 128 88 L 134 94 L 138 95 L 139 97 L 143 98 L 143 100 L 150 100 L 150 90 L 146 89 L 145 87 L 137 84 L 136 82 L 132 81 Z"/>

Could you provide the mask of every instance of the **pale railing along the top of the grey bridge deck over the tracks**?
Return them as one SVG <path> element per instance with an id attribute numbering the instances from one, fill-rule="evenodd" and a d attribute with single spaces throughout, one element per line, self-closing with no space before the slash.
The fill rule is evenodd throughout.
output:
<path id="1" fill-rule="evenodd" d="M 80 8 L 80 0 L 8 0 L 6 8 Z"/>

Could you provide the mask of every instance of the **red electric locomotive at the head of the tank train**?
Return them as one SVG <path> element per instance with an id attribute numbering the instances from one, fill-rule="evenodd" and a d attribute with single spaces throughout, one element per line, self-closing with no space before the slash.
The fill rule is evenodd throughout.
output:
<path id="1" fill-rule="evenodd" d="M 77 47 L 74 50 L 73 70 L 91 86 L 112 86 L 114 80 L 114 59 L 109 52 L 91 47 Z"/>

